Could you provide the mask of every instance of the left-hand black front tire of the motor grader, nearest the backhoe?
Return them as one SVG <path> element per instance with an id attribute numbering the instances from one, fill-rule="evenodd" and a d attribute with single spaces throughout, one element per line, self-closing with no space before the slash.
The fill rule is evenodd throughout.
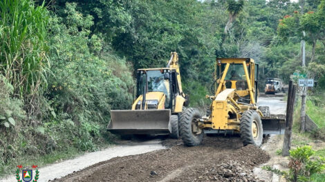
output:
<path id="1" fill-rule="evenodd" d="M 201 114 L 195 108 L 188 108 L 180 114 L 180 137 L 187 146 L 200 145 L 203 139 L 203 131 L 200 134 L 192 132 L 192 121 L 199 118 L 201 118 Z"/>

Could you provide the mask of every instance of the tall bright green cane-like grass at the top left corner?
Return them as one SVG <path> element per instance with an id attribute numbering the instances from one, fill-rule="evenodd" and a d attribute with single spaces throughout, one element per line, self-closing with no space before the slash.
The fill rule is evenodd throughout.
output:
<path id="1" fill-rule="evenodd" d="M 46 88 L 48 11 L 30 1 L 4 0 L 0 4 L 0 61 L 3 75 L 15 94 L 31 103 Z"/>

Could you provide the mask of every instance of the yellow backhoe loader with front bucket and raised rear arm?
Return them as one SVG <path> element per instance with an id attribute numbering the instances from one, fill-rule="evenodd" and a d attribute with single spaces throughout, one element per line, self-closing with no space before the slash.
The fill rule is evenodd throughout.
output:
<path id="1" fill-rule="evenodd" d="M 111 110 L 110 132 L 178 138 L 178 115 L 188 99 L 182 89 L 176 52 L 171 52 L 166 68 L 137 70 L 136 98 L 131 110 Z"/>

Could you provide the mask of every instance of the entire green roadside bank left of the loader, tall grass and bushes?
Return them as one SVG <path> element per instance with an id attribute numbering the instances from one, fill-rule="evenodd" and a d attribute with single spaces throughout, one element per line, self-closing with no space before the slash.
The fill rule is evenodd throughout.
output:
<path id="1" fill-rule="evenodd" d="M 8 41 L 0 60 L 0 174 L 28 162 L 24 156 L 32 155 L 41 165 L 53 162 L 46 156 L 66 158 L 111 143 L 114 136 L 106 132 L 109 110 L 129 107 L 131 65 L 111 53 L 100 34 L 91 34 L 93 17 L 77 12 L 75 3 L 67 3 L 61 17 L 31 1 L 1 4 L 9 6 L 18 12 L 3 10 L 1 19 L 15 13 L 18 17 L 1 21 L 1 35 Z M 12 23 L 17 30 L 10 29 Z M 35 28 L 41 23 L 44 27 Z M 9 30 L 21 32 L 14 37 Z M 9 44 L 18 38 L 17 44 Z"/>

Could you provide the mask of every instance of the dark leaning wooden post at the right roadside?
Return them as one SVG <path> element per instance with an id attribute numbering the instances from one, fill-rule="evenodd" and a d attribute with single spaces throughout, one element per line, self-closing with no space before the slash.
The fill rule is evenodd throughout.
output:
<path id="1" fill-rule="evenodd" d="M 289 150 L 291 148 L 291 134 L 293 128 L 293 112 L 295 110 L 295 97 L 296 97 L 297 85 L 293 85 L 293 81 L 290 80 L 288 101 L 286 110 L 286 130 L 284 132 L 284 146 L 282 148 L 282 156 L 289 156 Z"/>

